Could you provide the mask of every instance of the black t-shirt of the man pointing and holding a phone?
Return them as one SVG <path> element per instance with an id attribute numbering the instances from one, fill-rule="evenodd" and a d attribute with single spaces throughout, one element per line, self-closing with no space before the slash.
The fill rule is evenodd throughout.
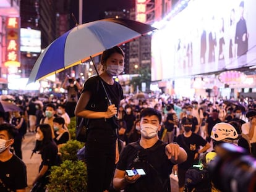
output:
<path id="1" fill-rule="evenodd" d="M 173 169 L 173 163 L 165 154 L 165 146 L 163 141 L 158 140 L 151 148 L 144 149 L 137 141 L 128 144 L 123 149 L 116 168 L 127 170 L 134 167 L 134 169 L 144 169 L 146 173 L 135 183 L 127 185 L 125 192 L 168 191 L 169 175 Z"/>

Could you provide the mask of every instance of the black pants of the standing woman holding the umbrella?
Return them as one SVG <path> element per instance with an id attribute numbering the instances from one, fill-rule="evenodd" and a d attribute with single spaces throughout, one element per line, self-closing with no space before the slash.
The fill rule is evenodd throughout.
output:
<path id="1" fill-rule="evenodd" d="M 115 157 L 116 137 L 114 131 L 107 128 L 89 129 L 85 147 L 88 192 L 109 190 L 113 179 Z"/>

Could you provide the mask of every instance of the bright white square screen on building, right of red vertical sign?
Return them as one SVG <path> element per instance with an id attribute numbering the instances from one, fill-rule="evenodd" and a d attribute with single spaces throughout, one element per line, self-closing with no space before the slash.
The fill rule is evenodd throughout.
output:
<path id="1" fill-rule="evenodd" d="M 41 52 L 41 31 L 20 28 L 20 51 Z"/>

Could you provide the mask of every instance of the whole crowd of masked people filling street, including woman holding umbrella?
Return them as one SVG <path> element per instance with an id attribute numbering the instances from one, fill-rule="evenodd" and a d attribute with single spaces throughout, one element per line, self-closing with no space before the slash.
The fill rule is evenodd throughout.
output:
<path id="1" fill-rule="evenodd" d="M 70 140 L 68 126 L 75 116 L 88 119 L 88 192 L 170 191 L 172 172 L 177 172 L 182 192 L 187 188 L 190 167 L 208 158 L 208 152 L 223 142 L 241 146 L 256 157 L 253 99 L 190 101 L 166 94 L 134 99 L 124 96 L 113 79 L 124 67 L 122 50 L 116 46 L 103 52 L 101 65 L 101 75 L 89 78 L 83 86 L 66 77 L 62 87 L 67 96 L 15 96 L 22 112 L 0 114 L 0 169 L 14 163 L 19 166 L 15 170 L 24 173 L 20 180 L 15 178 L 15 170 L 10 178 L 6 178 L 8 172 L 1 171 L 0 191 L 25 191 L 21 145 L 27 131 L 35 133 L 33 152 L 40 151 L 42 159 L 32 191 L 45 190 L 51 166 L 59 164 L 59 148 Z M 145 175 L 128 176 L 126 170 L 134 169 L 143 169 Z M 209 183 L 207 187 L 214 186 Z"/>

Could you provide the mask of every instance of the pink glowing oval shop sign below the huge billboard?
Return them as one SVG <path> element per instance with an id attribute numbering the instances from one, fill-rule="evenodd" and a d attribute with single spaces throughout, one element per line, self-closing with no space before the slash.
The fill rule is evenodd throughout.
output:
<path id="1" fill-rule="evenodd" d="M 221 83 L 234 85 L 243 83 L 246 80 L 246 75 L 243 72 L 230 70 L 227 72 L 220 73 L 219 80 L 221 81 Z"/>

